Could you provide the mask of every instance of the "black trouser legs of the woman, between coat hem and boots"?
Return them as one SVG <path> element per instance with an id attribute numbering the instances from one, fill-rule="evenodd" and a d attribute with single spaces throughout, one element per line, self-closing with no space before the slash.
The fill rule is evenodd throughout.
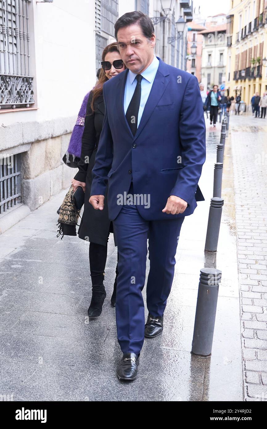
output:
<path id="1" fill-rule="evenodd" d="M 108 253 L 108 239 L 105 246 L 90 242 L 89 245 L 89 262 L 90 262 L 90 276 L 92 279 L 92 288 L 94 290 L 101 290 L 103 287 L 104 272 L 107 262 Z M 118 256 L 119 258 L 119 256 Z M 115 283 L 117 284 L 118 275 L 118 264 L 116 266 L 116 278 Z"/>

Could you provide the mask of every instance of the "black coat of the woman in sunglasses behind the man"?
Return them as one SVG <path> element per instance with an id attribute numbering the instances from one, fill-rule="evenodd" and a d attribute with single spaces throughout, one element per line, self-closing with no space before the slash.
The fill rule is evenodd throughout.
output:
<path id="1" fill-rule="evenodd" d="M 105 105 L 103 95 L 99 95 L 94 102 L 94 111 L 92 111 L 90 106 L 92 97 L 93 93 L 91 91 L 86 107 L 84 132 L 81 143 L 81 160 L 78 163 L 79 171 L 74 176 L 76 180 L 86 183 L 84 213 L 78 229 L 78 236 L 80 239 L 105 246 L 108 234 L 113 232 L 112 222 L 108 219 L 107 190 L 105 193 L 103 210 L 95 210 L 89 202 L 92 184 L 92 169 L 95 164 L 96 151 L 102 131 Z"/>

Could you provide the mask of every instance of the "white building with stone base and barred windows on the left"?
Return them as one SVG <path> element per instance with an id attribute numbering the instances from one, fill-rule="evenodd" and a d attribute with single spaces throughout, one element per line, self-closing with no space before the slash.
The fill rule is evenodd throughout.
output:
<path id="1" fill-rule="evenodd" d="M 70 186 L 76 171 L 62 157 L 82 100 L 115 22 L 133 10 L 153 19 L 155 54 L 185 69 L 175 21 L 192 20 L 192 1 L 0 1 L 0 233 Z"/>

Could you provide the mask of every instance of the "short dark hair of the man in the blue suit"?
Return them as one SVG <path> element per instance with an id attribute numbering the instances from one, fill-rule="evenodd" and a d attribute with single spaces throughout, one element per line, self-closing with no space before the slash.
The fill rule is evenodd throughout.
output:
<path id="1" fill-rule="evenodd" d="M 152 37 L 152 34 L 154 33 L 154 26 L 151 19 L 143 12 L 135 11 L 125 13 L 116 21 L 116 24 L 114 26 L 116 40 L 118 40 L 118 30 L 123 27 L 128 27 L 132 24 L 140 25 L 143 36 L 147 37 L 147 39 L 150 39 Z"/>

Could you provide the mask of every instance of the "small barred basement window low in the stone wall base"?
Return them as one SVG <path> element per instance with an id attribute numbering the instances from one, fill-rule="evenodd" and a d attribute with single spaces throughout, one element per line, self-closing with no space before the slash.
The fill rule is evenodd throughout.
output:
<path id="1" fill-rule="evenodd" d="M 20 154 L 0 158 L 0 215 L 21 202 Z"/>

